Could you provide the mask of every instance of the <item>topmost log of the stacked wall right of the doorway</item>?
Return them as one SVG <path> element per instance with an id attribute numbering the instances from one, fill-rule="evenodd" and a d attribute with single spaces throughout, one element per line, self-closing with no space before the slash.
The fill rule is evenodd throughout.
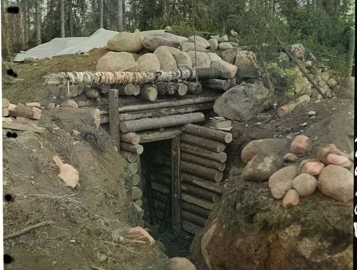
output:
<path id="1" fill-rule="evenodd" d="M 230 143 L 232 141 L 232 134 L 220 130 L 205 128 L 203 126 L 197 126 L 193 124 L 185 125 L 185 133 L 200 136 L 213 141 Z"/>

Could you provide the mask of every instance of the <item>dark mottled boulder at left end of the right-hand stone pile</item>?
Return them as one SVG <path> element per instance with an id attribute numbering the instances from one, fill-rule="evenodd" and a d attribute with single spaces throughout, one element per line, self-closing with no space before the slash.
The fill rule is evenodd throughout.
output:
<path id="1" fill-rule="evenodd" d="M 262 182 L 283 167 L 283 160 L 277 154 L 258 153 L 245 166 L 242 178 L 247 181 Z"/>

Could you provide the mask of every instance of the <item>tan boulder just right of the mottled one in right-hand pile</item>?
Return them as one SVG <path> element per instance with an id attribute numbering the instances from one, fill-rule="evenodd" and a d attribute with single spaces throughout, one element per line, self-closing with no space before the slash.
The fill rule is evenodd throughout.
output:
<path id="1" fill-rule="evenodd" d="M 275 199 L 282 199 L 292 189 L 292 181 L 297 173 L 296 166 L 287 166 L 273 173 L 268 180 L 270 192 Z"/>

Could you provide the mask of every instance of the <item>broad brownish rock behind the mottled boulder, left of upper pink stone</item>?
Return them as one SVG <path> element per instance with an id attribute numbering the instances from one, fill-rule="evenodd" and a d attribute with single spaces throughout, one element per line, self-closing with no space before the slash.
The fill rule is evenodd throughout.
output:
<path id="1" fill-rule="evenodd" d="M 256 154 L 265 155 L 276 154 L 284 156 L 290 147 L 291 141 L 288 139 L 261 139 L 249 142 L 242 150 L 241 158 L 244 163 L 248 163 Z"/>

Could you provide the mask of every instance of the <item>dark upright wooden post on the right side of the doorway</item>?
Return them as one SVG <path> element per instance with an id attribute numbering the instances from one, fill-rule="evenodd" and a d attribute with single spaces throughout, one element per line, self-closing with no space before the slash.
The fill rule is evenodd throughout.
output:
<path id="1" fill-rule="evenodd" d="M 171 194 L 172 194 L 172 232 L 180 234 L 181 217 L 181 181 L 180 181 L 180 135 L 171 140 Z"/>

